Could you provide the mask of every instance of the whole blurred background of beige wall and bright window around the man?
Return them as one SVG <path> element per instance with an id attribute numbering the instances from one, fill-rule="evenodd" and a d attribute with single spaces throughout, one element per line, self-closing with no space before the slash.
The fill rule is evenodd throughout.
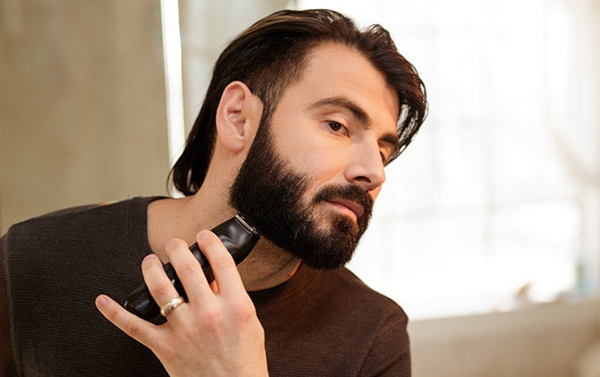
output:
<path id="1" fill-rule="evenodd" d="M 315 7 L 381 23 L 427 87 L 350 265 L 407 311 L 414 375 L 600 376 L 598 0 L 0 0 L 0 233 L 176 194 L 221 49 Z"/>

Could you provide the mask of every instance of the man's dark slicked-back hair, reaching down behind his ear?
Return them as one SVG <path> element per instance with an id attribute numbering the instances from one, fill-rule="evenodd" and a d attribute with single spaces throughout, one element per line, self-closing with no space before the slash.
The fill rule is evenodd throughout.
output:
<path id="1" fill-rule="evenodd" d="M 423 81 L 399 54 L 390 33 L 380 25 L 359 30 L 354 21 L 330 10 L 285 10 L 254 23 L 219 56 L 200 114 L 171 171 L 177 190 L 191 195 L 204 181 L 215 143 L 217 107 L 227 85 L 243 81 L 261 99 L 261 124 L 268 124 L 283 91 L 301 78 L 308 53 L 323 42 L 355 48 L 398 92 L 400 148 L 393 159 L 398 157 L 423 124 L 427 100 Z"/>

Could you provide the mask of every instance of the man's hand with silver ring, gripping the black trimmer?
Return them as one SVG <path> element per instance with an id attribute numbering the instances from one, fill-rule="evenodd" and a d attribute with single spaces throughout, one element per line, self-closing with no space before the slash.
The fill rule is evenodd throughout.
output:
<path id="1" fill-rule="evenodd" d="M 209 285 L 200 263 L 183 240 L 167 243 L 167 257 L 180 278 L 188 302 L 154 325 L 126 311 L 107 296 L 96 305 L 108 321 L 149 347 L 172 376 L 268 375 L 264 330 L 242 279 L 225 246 L 208 230 L 196 236 L 215 280 Z M 141 269 L 150 294 L 162 306 L 179 296 L 155 254 Z"/>

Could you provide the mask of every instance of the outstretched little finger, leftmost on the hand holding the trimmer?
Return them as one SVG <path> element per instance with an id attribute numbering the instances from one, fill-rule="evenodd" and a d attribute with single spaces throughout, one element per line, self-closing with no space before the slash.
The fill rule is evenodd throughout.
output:
<path id="1" fill-rule="evenodd" d="M 144 346 L 150 347 L 157 342 L 159 332 L 155 325 L 127 312 L 110 297 L 96 297 L 96 307 L 108 321 Z"/>

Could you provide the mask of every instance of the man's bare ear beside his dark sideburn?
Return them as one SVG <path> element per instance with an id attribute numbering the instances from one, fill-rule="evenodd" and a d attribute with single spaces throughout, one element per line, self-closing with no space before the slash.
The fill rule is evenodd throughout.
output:
<path id="1" fill-rule="evenodd" d="M 261 122 L 261 100 L 242 81 L 230 82 L 217 107 L 217 137 L 227 150 L 249 146 Z"/>

